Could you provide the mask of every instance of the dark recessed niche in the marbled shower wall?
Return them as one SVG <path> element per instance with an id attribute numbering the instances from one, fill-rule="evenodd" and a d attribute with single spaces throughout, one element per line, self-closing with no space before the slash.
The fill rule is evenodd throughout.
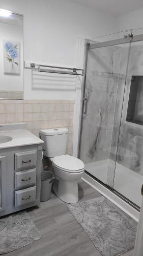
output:
<path id="1" fill-rule="evenodd" d="M 132 76 L 126 121 L 143 125 L 143 76 Z"/>

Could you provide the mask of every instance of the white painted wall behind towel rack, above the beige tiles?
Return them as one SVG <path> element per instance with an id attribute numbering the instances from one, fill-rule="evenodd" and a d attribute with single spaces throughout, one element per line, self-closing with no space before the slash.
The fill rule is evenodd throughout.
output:
<path id="1" fill-rule="evenodd" d="M 0 8 L 24 15 L 24 60 L 47 65 L 76 67 L 78 37 L 118 30 L 115 17 L 69 0 L 0 0 Z M 75 79 L 24 70 L 24 99 L 74 99 Z"/>

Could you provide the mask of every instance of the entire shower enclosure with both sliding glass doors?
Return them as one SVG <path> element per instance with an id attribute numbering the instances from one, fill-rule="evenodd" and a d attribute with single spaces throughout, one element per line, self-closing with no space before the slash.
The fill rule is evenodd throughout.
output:
<path id="1" fill-rule="evenodd" d="M 138 32 L 87 44 L 79 147 L 85 171 L 137 207 L 143 184 L 143 34 Z"/>

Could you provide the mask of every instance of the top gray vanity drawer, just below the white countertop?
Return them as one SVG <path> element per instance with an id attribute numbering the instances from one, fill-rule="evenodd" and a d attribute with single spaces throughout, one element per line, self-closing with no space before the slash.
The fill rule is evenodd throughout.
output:
<path id="1" fill-rule="evenodd" d="M 37 150 L 15 153 L 15 170 L 35 166 L 37 164 Z"/>

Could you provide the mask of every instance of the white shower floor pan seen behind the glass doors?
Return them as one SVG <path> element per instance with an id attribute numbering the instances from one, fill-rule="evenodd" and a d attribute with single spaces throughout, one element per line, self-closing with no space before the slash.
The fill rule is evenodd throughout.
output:
<path id="1" fill-rule="evenodd" d="M 115 166 L 115 162 L 110 161 L 112 166 Z M 107 184 L 108 165 L 109 159 L 92 162 L 85 164 L 85 170 L 104 184 Z M 142 184 L 143 176 L 133 172 L 122 164 L 116 163 L 113 189 L 138 206 L 141 205 Z"/>

